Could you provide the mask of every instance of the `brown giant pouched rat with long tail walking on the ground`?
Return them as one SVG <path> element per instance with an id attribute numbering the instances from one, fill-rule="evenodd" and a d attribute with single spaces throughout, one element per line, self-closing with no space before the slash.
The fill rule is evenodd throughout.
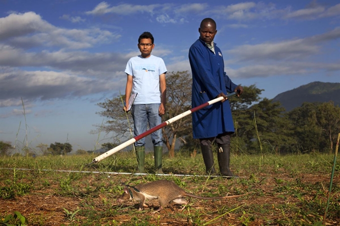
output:
<path id="1" fill-rule="evenodd" d="M 245 194 L 246 195 L 246 194 Z M 235 198 L 238 196 L 224 196 L 224 197 L 201 197 L 195 196 L 190 193 L 185 192 L 182 188 L 178 187 L 175 183 L 168 180 L 158 180 L 153 181 L 144 185 L 136 185 L 135 187 L 124 187 L 124 193 L 117 199 L 118 203 L 136 200 L 139 201 L 139 211 L 145 205 L 145 200 L 147 199 L 158 199 L 159 209 L 161 210 L 171 201 L 180 205 L 186 205 L 187 201 L 184 197 L 191 197 L 201 200 L 215 200 L 215 199 L 226 199 Z"/>

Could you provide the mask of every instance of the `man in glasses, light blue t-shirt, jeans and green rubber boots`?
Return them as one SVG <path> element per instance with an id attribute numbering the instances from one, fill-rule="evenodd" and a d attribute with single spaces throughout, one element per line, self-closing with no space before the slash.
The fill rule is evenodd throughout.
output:
<path id="1" fill-rule="evenodd" d="M 146 131 L 147 123 L 153 128 L 161 123 L 161 115 L 165 113 L 166 103 L 166 67 L 160 57 L 151 55 L 154 48 L 153 36 L 150 32 L 143 32 L 138 38 L 140 55 L 131 57 L 125 68 L 127 74 L 125 88 L 124 110 L 129 108 L 131 93 L 137 93 L 132 104 L 134 136 Z M 162 171 L 163 141 L 161 130 L 151 134 L 154 152 L 154 166 L 157 174 Z M 145 138 L 134 143 L 137 156 L 138 172 L 144 173 Z"/>

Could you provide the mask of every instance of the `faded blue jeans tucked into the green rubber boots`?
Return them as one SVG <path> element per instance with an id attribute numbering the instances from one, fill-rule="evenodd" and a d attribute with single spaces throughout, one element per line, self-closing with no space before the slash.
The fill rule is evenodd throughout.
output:
<path id="1" fill-rule="evenodd" d="M 133 133 L 138 136 L 146 131 L 147 123 L 149 128 L 153 128 L 161 123 L 158 114 L 160 104 L 133 104 L 131 108 L 133 119 Z M 161 129 L 151 133 L 153 146 L 163 146 Z M 134 143 L 135 146 L 145 146 L 145 137 Z"/>

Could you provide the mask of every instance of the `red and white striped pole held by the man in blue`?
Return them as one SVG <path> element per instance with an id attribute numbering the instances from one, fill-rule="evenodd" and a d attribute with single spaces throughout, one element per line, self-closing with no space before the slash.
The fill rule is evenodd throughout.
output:
<path id="1" fill-rule="evenodd" d="M 237 92 L 229 93 L 227 95 L 227 97 L 233 96 L 236 93 Z M 107 158 L 108 156 L 110 156 L 110 155 L 120 151 L 121 149 L 126 148 L 127 146 L 133 144 L 134 142 L 140 140 L 141 138 L 146 137 L 147 135 L 153 133 L 154 131 L 161 129 L 161 128 L 167 126 L 168 124 L 173 123 L 174 121 L 177 121 L 178 119 L 181 119 L 181 118 L 191 114 L 192 112 L 198 111 L 198 110 L 202 109 L 203 107 L 206 107 L 206 106 L 209 106 L 211 104 L 217 103 L 217 102 L 219 102 L 221 100 L 223 100 L 223 97 L 218 97 L 218 98 L 210 100 L 210 101 L 208 101 L 208 102 L 206 102 L 204 104 L 201 104 L 201 105 L 199 105 L 197 107 L 191 108 L 190 110 L 187 110 L 187 111 L 185 111 L 185 112 L 183 112 L 183 113 L 181 113 L 179 115 L 176 115 L 175 117 L 170 118 L 169 120 L 167 120 L 165 122 L 162 122 L 159 125 L 157 125 L 157 126 L 151 128 L 151 129 L 145 131 L 144 133 L 139 134 L 138 136 L 135 136 L 134 138 L 132 138 L 132 139 L 130 139 L 128 141 L 125 141 L 124 143 L 122 143 L 122 144 L 112 148 L 111 150 L 109 150 L 109 151 L 99 155 L 98 157 L 94 158 L 90 164 L 97 163 L 97 162 Z"/>

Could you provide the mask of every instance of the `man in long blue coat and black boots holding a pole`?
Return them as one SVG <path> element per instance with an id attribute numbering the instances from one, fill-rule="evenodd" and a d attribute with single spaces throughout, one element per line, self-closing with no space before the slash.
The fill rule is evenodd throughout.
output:
<path id="1" fill-rule="evenodd" d="M 224 72 L 224 61 L 221 50 L 213 42 L 217 33 L 216 23 L 211 18 L 201 21 L 198 28 L 199 38 L 189 49 L 189 61 L 192 71 L 192 107 L 197 107 L 217 97 L 224 97 L 192 113 L 193 138 L 199 139 L 205 171 L 215 175 L 212 142 L 217 144 L 219 173 L 232 177 L 229 169 L 230 134 L 234 133 L 230 104 L 227 93 L 239 92 L 243 88 L 232 83 Z"/>

